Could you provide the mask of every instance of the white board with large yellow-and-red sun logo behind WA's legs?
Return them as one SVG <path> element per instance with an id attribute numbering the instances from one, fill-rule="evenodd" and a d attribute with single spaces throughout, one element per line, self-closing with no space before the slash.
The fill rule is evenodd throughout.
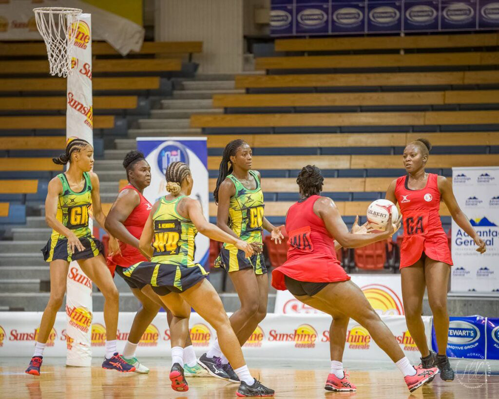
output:
<path id="1" fill-rule="evenodd" d="M 352 274 L 373 309 L 379 315 L 404 315 L 400 274 Z M 277 291 L 274 312 L 278 314 L 324 314 L 298 301 L 289 291 Z"/>

